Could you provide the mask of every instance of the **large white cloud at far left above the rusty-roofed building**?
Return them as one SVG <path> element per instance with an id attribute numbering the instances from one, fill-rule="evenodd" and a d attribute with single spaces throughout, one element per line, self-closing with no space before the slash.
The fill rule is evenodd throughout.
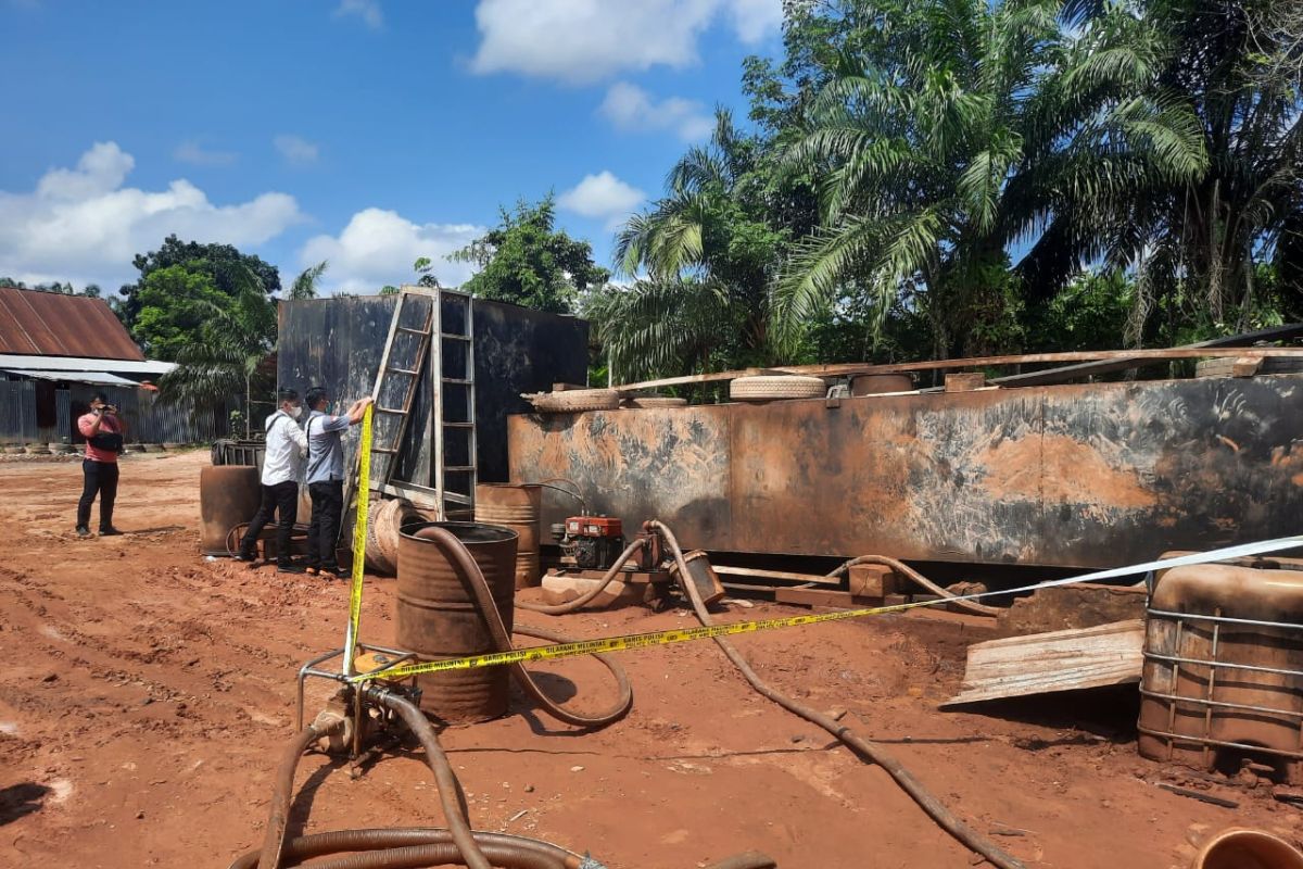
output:
<path id="1" fill-rule="evenodd" d="M 0 275 L 113 287 L 136 278 L 132 258 L 181 238 L 259 245 L 304 220 L 284 193 L 218 206 L 189 181 L 165 190 L 122 186 L 136 160 L 98 142 L 72 169 L 50 169 L 31 193 L 0 190 Z"/>

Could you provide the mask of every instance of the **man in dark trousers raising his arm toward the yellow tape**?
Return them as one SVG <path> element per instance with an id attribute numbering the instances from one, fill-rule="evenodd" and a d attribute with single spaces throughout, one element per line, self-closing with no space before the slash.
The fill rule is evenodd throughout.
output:
<path id="1" fill-rule="evenodd" d="M 313 499 L 313 521 L 308 526 L 308 572 L 340 576 L 335 563 L 335 543 L 344 512 L 343 434 L 362 421 L 371 397 L 358 399 L 343 414 L 330 413 L 330 397 L 319 386 L 308 391 L 308 494 Z"/>

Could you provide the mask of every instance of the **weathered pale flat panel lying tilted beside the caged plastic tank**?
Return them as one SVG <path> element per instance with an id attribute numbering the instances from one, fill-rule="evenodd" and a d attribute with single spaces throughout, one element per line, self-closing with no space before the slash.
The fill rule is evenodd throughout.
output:
<path id="1" fill-rule="evenodd" d="M 968 648 L 964 684 L 942 709 L 1140 681 L 1144 621 L 992 640 Z"/>

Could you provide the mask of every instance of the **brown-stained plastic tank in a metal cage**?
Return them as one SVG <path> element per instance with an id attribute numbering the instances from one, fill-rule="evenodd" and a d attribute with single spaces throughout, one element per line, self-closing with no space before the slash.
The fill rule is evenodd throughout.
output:
<path id="1" fill-rule="evenodd" d="M 1303 783 L 1303 572 L 1230 564 L 1162 571 L 1149 601 L 1138 748 Z"/>

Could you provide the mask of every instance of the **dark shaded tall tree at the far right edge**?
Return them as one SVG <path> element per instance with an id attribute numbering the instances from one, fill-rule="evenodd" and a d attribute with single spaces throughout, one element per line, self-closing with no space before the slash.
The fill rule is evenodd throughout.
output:
<path id="1" fill-rule="evenodd" d="M 1138 274 L 1130 339 L 1270 322 L 1260 264 L 1303 292 L 1303 13 L 1278 0 L 1148 0 L 1141 14 L 1167 35 L 1157 81 L 1197 119 L 1208 160 L 1194 177 L 1138 184 L 1096 229 L 1110 262 Z"/>

